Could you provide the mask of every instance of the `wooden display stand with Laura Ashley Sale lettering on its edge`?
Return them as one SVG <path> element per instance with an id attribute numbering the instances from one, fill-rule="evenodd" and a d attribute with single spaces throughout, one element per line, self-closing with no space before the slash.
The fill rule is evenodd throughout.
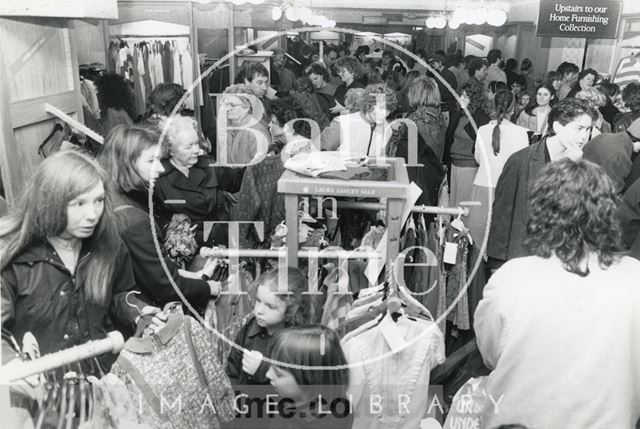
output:
<path id="1" fill-rule="evenodd" d="M 298 266 L 298 198 L 302 195 L 324 197 L 386 198 L 387 261 L 399 254 L 402 209 L 409 194 L 409 176 L 402 158 L 377 160 L 386 165 L 386 181 L 338 180 L 313 178 L 287 170 L 278 181 L 278 192 L 284 194 L 287 228 L 288 265 Z M 388 265 L 389 266 L 389 265 Z"/>

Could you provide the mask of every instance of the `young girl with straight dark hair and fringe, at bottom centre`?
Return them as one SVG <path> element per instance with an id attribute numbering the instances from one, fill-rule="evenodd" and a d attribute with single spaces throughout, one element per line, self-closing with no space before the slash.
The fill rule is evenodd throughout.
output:
<path id="1" fill-rule="evenodd" d="M 279 394 L 270 428 L 351 427 L 349 370 L 334 331 L 320 325 L 285 329 L 273 340 L 270 360 L 267 377 Z"/>

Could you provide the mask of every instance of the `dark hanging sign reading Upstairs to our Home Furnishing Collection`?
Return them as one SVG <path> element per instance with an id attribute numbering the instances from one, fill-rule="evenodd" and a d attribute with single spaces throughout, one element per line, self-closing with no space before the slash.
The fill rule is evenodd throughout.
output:
<path id="1" fill-rule="evenodd" d="M 538 36 L 615 39 L 621 1 L 541 0 Z"/>

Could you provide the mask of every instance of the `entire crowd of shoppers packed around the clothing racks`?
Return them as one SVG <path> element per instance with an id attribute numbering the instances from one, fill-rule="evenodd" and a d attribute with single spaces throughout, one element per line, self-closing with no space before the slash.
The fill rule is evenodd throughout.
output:
<path id="1" fill-rule="evenodd" d="M 415 138 L 419 165 L 407 171 L 422 190 L 417 204 L 442 203 L 443 183 L 446 204 L 476 203 L 464 221 L 469 267 L 482 273 L 471 286 L 483 295 L 469 304 L 473 331 L 491 370 L 480 383 L 481 427 L 635 427 L 640 82 L 621 89 L 571 63 L 543 73 L 528 59 L 504 61 L 499 50 L 486 59 L 416 54 L 426 61 L 367 46 L 326 46 L 322 57 L 309 45 L 277 50 L 270 70 L 247 62 L 224 89 L 213 134 L 183 111 L 179 86 L 160 84 L 148 112 L 133 118 L 126 83 L 99 76 L 107 114 L 97 156 L 51 155 L 0 219 L 3 349 L 11 354 L 5 329 L 18 342 L 33 333 L 43 354 L 113 329 L 158 335 L 167 327 L 163 308 L 182 298 L 201 314 L 211 303 L 227 311 L 221 297 L 236 274 L 213 280 L 219 260 L 194 268 L 172 251 L 230 246 L 230 228 L 207 221 L 260 213 L 271 233 L 282 202 L 270 175 L 277 179 L 296 155 L 409 161 Z M 193 237 L 159 247 L 180 216 Z M 352 217 L 347 224 L 363 219 Z M 351 233 L 362 236 L 369 221 Z M 358 245 L 345 231 L 342 246 Z M 319 324 L 322 304 L 303 293 L 307 276 L 286 269 L 283 293 L 282 270 L 252 271 L 253 308 L 234 332 L 238 347 L 223 356 L 229 381 L 247 397 L 256 394 L 251 386 L 272 386 L 292 399 L 292 417 L 269 427 L 370 425 L 352 412 L 323 419 L 315 408 L 319 394 L 348 397 L 354 362 L 346 340 Z M 114 359 L 86 371 L 109 372 Z M 504 399 L 499 412 L 487 397 Z M 449 427 L 464 417 L 454 414 Z"/>

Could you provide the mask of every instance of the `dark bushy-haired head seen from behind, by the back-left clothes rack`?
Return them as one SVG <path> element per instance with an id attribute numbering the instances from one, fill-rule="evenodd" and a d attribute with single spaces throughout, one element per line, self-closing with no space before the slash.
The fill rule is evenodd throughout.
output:
<path id="1" fill-rule="evenodd" d="M 134 106 L 133 90 L 116 73 L 104 73 L 95 81 L 100 104 L 100 122 L 104 135 L 116 125 L 133 125 L 138 114 Z M 141 112 L 142 113 L 142 112 Z"/>

